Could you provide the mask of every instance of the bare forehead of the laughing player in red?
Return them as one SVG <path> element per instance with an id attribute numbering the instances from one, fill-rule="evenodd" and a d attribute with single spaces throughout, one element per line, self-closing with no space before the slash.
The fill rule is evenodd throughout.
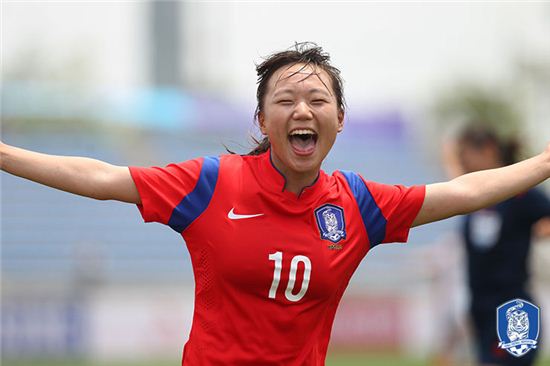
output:
<path id="1" fill-rule="evenodd" d="M 328 73 L 321 67 L 302 63 L 282 66 L 273 73 L 268 85 L 271 92 L 305 86 L 327 90 L 332 94 L 332 82 Z"/>

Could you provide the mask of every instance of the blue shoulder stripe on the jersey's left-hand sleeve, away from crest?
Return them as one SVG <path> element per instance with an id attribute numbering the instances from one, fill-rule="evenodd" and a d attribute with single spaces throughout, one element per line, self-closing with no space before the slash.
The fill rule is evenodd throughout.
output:
<path id="1" fill-rule="evenodd" d="M 216 188 L 219 168 L 219 157 L 207 156 L 204 158 L 195 189 L 185 196 L 172 211 L 168 221 L 168 225 L 172 229 L 181 233 L 206 210 Z"/>

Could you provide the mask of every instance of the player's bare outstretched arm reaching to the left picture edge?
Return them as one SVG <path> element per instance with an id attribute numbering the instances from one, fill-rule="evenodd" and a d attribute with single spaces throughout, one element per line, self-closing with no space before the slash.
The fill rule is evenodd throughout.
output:
<path id="1" fill-rule="evenodd" d="M 0 142 L 0 168 L 85 197 L 141 203 L 127 167 L 95 159 L 41 154 Z"/>

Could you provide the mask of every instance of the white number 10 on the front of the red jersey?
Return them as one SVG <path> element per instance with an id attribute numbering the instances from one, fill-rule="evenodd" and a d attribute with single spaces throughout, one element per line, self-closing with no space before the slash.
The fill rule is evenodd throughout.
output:
<path id="1" fill-rule="evenodd" d="M 274 299 L 277 295 L 277 288 L 279 287 L 279 281 L 281 281 L 281 270 L 283 268 L 283 252 L 276 252 L 269 255 L 269 260 L 275 261 L 275 269 L 273 270 L 273 282 L 271 282 L 271 288 L 269 289 L 269 298 Z M 298 263 L 304 264 L 304 279 L 302 280 L 302 287 L 300 292 L 296 295 L 292 293 L 294 290 L 294 283 L 296 282 L 296 272 L 298 271 Z M 305 255 L 297 255 L 292 258 L 290 262 L 290 273 L 288 276 L 288 285 L 286 286 L 285 297 L 288 301 L 299 301 L 306 294 L 307 287 L 309 286 L 309 277 L 311 275 L 311 261 Z"/>

